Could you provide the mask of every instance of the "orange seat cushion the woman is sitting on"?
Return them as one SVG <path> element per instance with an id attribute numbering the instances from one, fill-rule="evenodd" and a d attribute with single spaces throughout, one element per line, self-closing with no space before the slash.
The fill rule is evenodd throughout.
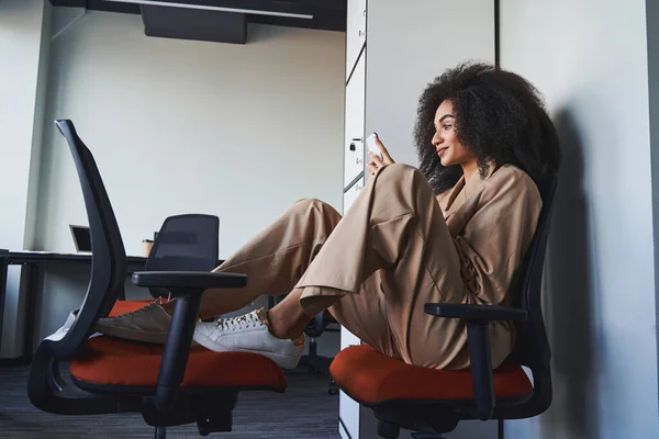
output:
<path id="1" fill-rule="evenodd" d="M 367 345 L 340 351 L 330 371 L 338 386 L 361 404 L 400 399 L 471 399 L 471 373 L 411 365 Z M 521 397 L 533 392 L 522 367 L 504 363 L 493 373 L 496 397 Z"/>

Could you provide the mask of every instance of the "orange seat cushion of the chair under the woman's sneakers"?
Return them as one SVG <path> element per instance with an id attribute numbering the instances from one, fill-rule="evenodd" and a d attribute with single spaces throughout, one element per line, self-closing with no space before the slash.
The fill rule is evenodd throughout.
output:
<path id="1" fill-rule="evenodd" d="M 118 301 L 110 316 L 137 309 L 152 301 Z M 94 337 L 69 364 L 71 376 L 97 386 L 157 385 L 163 346 Z M 213 352 L 190 348 L 182 387 L 268 389 L 283 392 L 288 381 L 272 360 L 250 352 Z"/>

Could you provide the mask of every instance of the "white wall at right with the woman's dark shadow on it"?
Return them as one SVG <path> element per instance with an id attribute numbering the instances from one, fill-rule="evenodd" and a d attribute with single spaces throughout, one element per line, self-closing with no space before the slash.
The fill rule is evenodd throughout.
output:
<path id="1" fill-rule="evenodd" d="M 656 438 L 644 0 L 501 1 L 501 64 L 548 101 L 565 155 L 546 316 L 555 399 L 506 438 Z"/>

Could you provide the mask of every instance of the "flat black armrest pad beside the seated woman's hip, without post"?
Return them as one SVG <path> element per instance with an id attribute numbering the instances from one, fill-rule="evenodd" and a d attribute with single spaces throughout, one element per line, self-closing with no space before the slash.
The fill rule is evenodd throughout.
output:
<path id="1" fill-rule="evenodd" d="M 459 318 L 467 322 L 521 322 L 528 318 L 526 309 L 496 305 L 462 305 L 458 303 L 426 303 L 426 314 L 436 317 Z"/>

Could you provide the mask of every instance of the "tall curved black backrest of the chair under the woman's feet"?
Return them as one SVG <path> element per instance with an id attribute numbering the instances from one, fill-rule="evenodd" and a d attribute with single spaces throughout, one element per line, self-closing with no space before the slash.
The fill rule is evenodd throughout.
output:
<path id="1" fill-rule="evenodd" d="M 69 331 L 51 347 L 57 358 L 67 359 L 94 331 L 97 319 L 110 313 L 126 279 L 126 252 L 108 192 L 91 151 L 85 146 L 71 121 L 55 121 L 68 142 L 82 187 L 91 235 L 91 278 L 85 300 Z"/>

